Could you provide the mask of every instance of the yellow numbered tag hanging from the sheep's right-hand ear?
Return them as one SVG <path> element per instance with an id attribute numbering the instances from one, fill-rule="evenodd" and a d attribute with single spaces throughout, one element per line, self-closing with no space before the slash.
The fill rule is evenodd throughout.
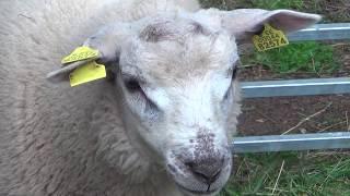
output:
<path id="1" fill-rule="evenodd" d="M 258 51 L 261 52 L 289 45 L 287 36 L 282 30 L 278 30 L 269 24 L 265 24 L 264 26 L 261 35 L 253 36 L 254 46 Z"/>

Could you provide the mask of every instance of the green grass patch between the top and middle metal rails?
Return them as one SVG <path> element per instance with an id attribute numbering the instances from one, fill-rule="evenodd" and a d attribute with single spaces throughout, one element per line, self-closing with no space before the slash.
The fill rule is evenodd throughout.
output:
<path id="1" fill-rule="evenodd" d="M 305 41 L 287 47 L 254 52 L 242 58 L 243 64 L 262 64 L 269 70 L 281 73 L 306 72 L 317 75 L 330 74 L 339 68 L 335 60 L 334 48 L 329 45 Z"/>

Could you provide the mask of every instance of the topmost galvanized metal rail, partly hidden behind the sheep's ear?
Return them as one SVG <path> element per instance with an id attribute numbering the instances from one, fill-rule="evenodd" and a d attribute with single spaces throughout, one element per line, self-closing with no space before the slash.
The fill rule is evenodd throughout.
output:
<path id="1" fill-rule="evenodd" d="M 288 37 L 290 41 L 350 39 L 350 23 L 316 24 Z"/>

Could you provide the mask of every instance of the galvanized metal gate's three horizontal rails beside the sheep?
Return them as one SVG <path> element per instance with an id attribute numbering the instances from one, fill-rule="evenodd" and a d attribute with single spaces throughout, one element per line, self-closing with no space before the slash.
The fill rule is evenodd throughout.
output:
<path id="1" fill-rule="evenodd" d="M 290 41 L 350 39 L 350 23 L 317 24 L 288 35 Z M 350 93 L 350 78 L 241 83 L 245 98 Z M 350 148 L 350 132 L 235 137 L 234 154 Z"/>

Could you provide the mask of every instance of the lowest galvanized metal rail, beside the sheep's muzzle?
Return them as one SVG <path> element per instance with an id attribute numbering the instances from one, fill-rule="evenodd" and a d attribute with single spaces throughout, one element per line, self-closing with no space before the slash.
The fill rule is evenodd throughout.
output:
<path id="1" fill-rule="evenodd" d="M 235 137 L 233 152 L 350 148 L 350 132 Z"/>

